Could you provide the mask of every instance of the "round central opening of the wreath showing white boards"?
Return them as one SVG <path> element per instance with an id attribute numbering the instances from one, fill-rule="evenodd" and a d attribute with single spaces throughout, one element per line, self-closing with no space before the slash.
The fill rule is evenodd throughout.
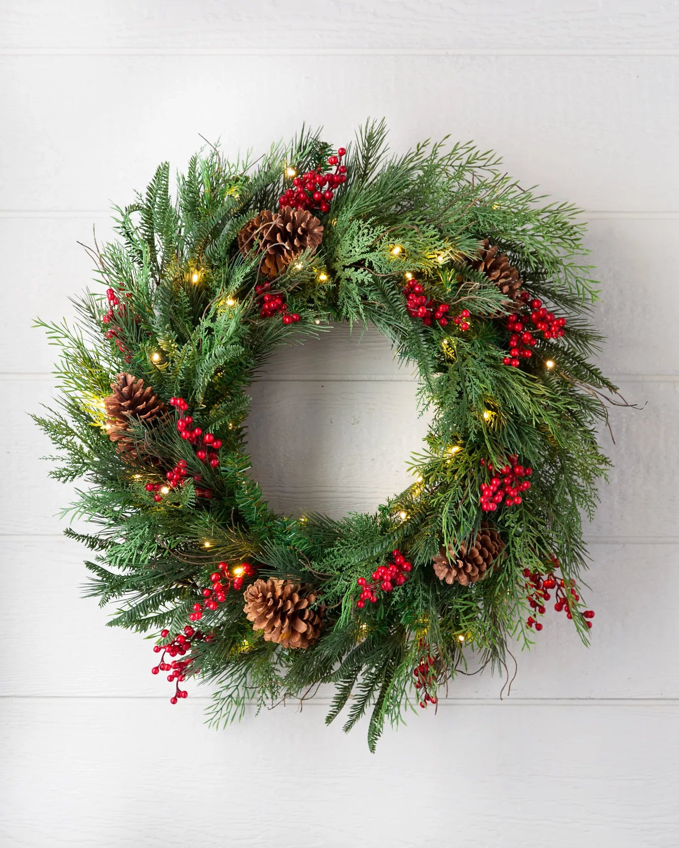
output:
<path id="1" fill-rule="evenodd" d="M 341 323 L 280 349 L 250 387 L 250 473 L 277 512 L 372 512 L 412 483 L 407 460 L 430 422 L 417 377 L 362 331 Z"/>

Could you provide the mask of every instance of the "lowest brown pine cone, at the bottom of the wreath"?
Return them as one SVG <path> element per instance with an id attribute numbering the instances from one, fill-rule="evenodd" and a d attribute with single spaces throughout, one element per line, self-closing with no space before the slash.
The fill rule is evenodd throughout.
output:
<path id="1" fill-rule="evenodd" d="M 291 580 L 255 580 L 245 590 L 244 598 L 245 615 L 254 630 L 264 631 L 267 642 L 308 648 L 318 639 L 323 611 L 310 609 L 316 595 L 307 587 Z"/>

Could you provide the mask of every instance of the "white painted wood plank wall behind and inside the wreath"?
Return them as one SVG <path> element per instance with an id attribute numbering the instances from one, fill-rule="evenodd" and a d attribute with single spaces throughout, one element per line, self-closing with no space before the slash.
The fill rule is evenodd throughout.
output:
<path id="1" fill-rule="evenodd" d="M 0 2 L 3 848 L 679 844 L 678 33 L 675 0 Z M 587 532 L 592 648 L 549 616 L 509 700 L 460 680 L 371 756 L 324 704 L 222 733 L 194 689 L 171 707 L 149 643 L 80 598 L 84 554 L 54 517 L 68 492 L 25 411 L 52 382 L 32 317 L 68 312 L 90 276 L 76 239 L 105 236 L 160 159 L 302 120 L 341 144 L 383 114 L 393 148 L 474 138 L 586 209 L 602 364 L 646 406 L 614 413 Z M 274 505 L 340 514 L 404 483 L 424 422 L 373 333 L 282 354 L 254 394 Z"/>

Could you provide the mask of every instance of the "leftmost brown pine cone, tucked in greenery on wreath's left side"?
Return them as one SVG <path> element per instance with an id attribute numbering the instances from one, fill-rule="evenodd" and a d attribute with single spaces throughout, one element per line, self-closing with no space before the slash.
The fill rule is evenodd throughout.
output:
<path id="1" fill-rule="evenodd" d="M 121 458 L 133 465 L 143 462 L 139 449 L 132 438 L 130 421 L 155 421 L 167 414 L 166 404 L 158 397 L 150 386 L 144 386 L 140 377 L 138 380 L 132 374 L 120 374 L 118 382 L 112 382 L 113 394 L 104 399 L 106 412 L 109 416 L 107 428 L 110 440 Z M 148 459 L 148 458 L 147 458 Z M 156 458 L 151 460 L 154 464 Z"/>

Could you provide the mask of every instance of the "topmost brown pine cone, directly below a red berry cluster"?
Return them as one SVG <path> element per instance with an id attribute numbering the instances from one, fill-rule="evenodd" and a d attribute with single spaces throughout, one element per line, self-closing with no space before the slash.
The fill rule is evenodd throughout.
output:
<path id="1" fill-rule="evenodd" d="M 282 274 L 293 259 L 315 253 L 323 240 L 323 226 L 307 209 L 283 206 L 280 212 L 262 209 L 238 232 L 238 248 L 248 256 L 255 247 L 264 254 L 261 273 L 270 280 Z"/>

